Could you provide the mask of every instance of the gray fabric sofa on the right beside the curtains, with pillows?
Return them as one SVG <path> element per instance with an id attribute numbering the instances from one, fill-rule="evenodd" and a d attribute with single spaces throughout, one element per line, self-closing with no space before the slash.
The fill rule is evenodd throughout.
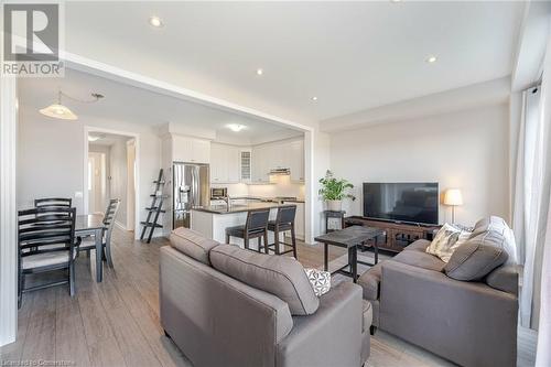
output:
<path id="1" fill-rule="evenodd" d="M 420 239 L 361 274 L 374 327 L 462 366 L 515 366 L 518 274 L 504 263 L 504 224 L 479 220 L 447 263 Z"/>

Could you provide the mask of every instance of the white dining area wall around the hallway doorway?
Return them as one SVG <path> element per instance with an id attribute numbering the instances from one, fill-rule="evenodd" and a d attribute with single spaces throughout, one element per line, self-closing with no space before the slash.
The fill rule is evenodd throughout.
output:
<path id="1" fill-rule="evenodd" d="M 161 139 L 156 131 L 139 123 L 86 116 L 79 116 L 77 121 L 56 120 L 34 109 L 25 109 L 21 115 L 18 206 L 31 206 L 32 201 L 41 196 L 72 196 L 78 213 L 84 213 L 83 198 L 75 197 L 75 192 L 86 188 L 84 151 L 88 142 L 84 137 L 85 126 L 139 134 L 140 203 L 137 209 L 140 220 L 144 220 L 143 207 L 150 204 L 152 182 L 161 166 Z"/>

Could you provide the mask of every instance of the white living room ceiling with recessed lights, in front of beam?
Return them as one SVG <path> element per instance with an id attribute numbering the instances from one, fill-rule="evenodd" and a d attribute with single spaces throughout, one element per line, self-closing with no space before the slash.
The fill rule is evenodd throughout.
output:
<path id="1" fill-rule="evenodd" d="M 510 75 L 523 8 L 520 1 L 69 2 L 66 45 L 213 96 L 261 98 L 323 120 Z M 148 24 L 153 14 L 164 28 Z M 425 62 L 431 54 L 434 64 Z"/>

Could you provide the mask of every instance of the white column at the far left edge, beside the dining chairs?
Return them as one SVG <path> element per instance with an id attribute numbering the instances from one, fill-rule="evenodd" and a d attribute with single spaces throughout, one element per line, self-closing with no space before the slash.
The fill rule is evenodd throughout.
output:
<path id="1" fill-rule="evenodd" d="M 17 288 L 17 79 L 0 78 L 0 346 L 15 341 Z"/>

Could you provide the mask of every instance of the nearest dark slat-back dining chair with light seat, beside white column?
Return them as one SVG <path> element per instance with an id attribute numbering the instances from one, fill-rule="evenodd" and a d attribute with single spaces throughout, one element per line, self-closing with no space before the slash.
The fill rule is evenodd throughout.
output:
<path id="1" fill-rule="evenodd" d="M 37 207 L 18 213 L 18 306 L 24 292 L 68 283 L 75 294 L 76 209 Z M 67 269 L 67 279 L 25 288 L 25 277 L 32 273 Z"/>

